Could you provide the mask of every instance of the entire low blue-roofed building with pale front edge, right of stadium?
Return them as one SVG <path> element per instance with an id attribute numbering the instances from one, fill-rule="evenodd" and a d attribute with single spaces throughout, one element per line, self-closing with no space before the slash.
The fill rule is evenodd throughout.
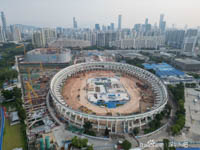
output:
<path id="1" fill-rule="evenodd" d="M 195 80 L 192 76 L 172 67 L 167 63 L 159 64 L 143 64 L 146 70 L 154 70 L 155 74 L 163 80 L 165 84 L 178 84 L 183 83 L 194 83 Z"/>

